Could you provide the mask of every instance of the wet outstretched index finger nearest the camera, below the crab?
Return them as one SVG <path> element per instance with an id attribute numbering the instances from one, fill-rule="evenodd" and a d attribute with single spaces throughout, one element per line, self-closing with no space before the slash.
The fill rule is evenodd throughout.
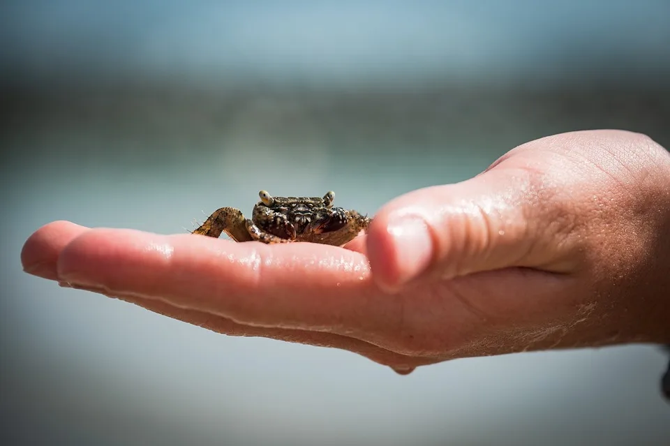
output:
<path id="1" fill-rule="evenodd" d="M 368 332 L 398 314 L 367 258 L 335 246 L 234 243 L 119 229 L 84 232 L 59 255 L 61 281 L 263 327 Z M 389 321 L 387 321 L 389 322 Z"/>

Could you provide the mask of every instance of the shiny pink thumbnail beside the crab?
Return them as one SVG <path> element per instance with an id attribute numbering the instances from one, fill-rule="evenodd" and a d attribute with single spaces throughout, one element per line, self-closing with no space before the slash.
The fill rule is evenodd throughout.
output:
<path id="1" fill-rule="evenodd" d="M 421 274 L 433 258 L 433 239 L 428 225 L 419 216 L 403 216 L 387 227 L 392 236 L 392 249 L 397 276 L 394 283 L 403 285 Z"/>

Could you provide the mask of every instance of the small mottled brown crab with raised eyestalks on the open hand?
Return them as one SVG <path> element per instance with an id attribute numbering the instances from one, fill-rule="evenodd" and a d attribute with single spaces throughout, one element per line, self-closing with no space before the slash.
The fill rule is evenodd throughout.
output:
<path id="1" fill-rule="evenodd" d="M 367 230 L 371 219 L 357 211 L 333 207 L 335 193 L 321 197 L 273 197 L 260 191 L 260 202 L 251 219 L 239 209 L 222 207 L 211 214 L 193 234 L 219 237 L 225 232 L 234 241 L 267 244 L 310 241 L 342 246 Z"/>

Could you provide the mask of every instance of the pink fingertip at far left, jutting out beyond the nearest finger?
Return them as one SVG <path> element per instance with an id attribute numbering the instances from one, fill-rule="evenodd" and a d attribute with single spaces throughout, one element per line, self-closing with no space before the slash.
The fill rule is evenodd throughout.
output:
<path id="1" fill-rule="evenodd" d="M 21 265 L 24 272 L 57 280 L 57 263 L 64 248 L 89 230 L 69 221 L 54 221 L 36 230 L 23 245 Z"/>

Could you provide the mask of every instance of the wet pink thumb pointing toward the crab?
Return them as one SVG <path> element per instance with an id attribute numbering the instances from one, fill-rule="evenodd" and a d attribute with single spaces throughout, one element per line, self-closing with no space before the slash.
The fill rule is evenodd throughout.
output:
<path id="1" fill-rule="evenodd" d="M 371 223 L 366 251 L 386 290 L 507 267 L 574 269 L 570 200 L 507 158 L 459 184 L 401 195 Z"/>

